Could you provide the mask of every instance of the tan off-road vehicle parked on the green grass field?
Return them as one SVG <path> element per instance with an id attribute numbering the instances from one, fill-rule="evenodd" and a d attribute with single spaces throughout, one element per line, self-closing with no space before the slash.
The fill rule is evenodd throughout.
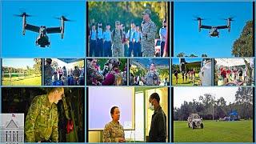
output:
<path id="1" fill-rule="evenodd" d="M 196 127 L 200 127 L 203 129 L 202 118 L 198 114 L 190 114 L 190 117 L 187 118 L 187 126 L 192 127 L 192 129 Z"/>

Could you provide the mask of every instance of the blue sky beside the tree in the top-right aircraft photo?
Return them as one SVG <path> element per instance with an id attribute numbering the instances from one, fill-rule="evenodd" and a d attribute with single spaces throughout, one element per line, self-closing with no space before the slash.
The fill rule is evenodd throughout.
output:
<path id="1" fill-rule="evenodd" d="M 226 25 L 221 18 L 234 16 L 230 33 L 220 30 L 219 38 L 210 38 L 208 30 L 198 32 L 198 22 L 194 16 L 207 18 L 202 25 Z M 252 20 L 252 2 L 174 2 L 174 57 L 184 52 L 201 57 L 233 57 L 231 48 L 239 38 L 243 26 Z"/>

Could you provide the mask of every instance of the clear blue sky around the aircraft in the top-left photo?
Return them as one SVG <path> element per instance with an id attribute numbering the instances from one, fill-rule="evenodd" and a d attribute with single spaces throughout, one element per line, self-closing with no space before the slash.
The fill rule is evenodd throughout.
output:
<path id="1" fill-rule="evenodd" d="M 64 38 L 48 34 L 50 48 L 35 46 L 37 33 L 26 30 L 22 35 L 22 18 L 14 17 L 21 11 L 34 15 L 27 23 L 36 26 L 60 26 L 54 17 L 66 15 L 74 22 L 65 23 Z M 86 2 L 2 2 L 2 57 L 3 58 L 83 58 L 86 49 Z"/>

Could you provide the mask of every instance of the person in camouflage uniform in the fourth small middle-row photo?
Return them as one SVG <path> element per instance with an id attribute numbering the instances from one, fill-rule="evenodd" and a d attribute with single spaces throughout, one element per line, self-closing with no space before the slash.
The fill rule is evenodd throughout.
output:
<path id="1" fill-rule="evenodd" d="M 159 86 L 160 78 L 158 72 L 155 70 L 154 63 L 151 63 L 150 70 L 147 72 L 146 77 L 142 78 L 142 82 L 147 86 Z"/>

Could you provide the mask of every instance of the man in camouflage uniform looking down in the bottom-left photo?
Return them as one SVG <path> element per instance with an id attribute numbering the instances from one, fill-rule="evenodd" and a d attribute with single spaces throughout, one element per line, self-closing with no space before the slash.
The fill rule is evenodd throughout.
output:
<path id="1" fill-rule="evenodd" d="M 58 87 L 33 99 L 26 115 L 26 142 L 58 142 L 57 103 L 63 95 L 64 89 Z"/>

